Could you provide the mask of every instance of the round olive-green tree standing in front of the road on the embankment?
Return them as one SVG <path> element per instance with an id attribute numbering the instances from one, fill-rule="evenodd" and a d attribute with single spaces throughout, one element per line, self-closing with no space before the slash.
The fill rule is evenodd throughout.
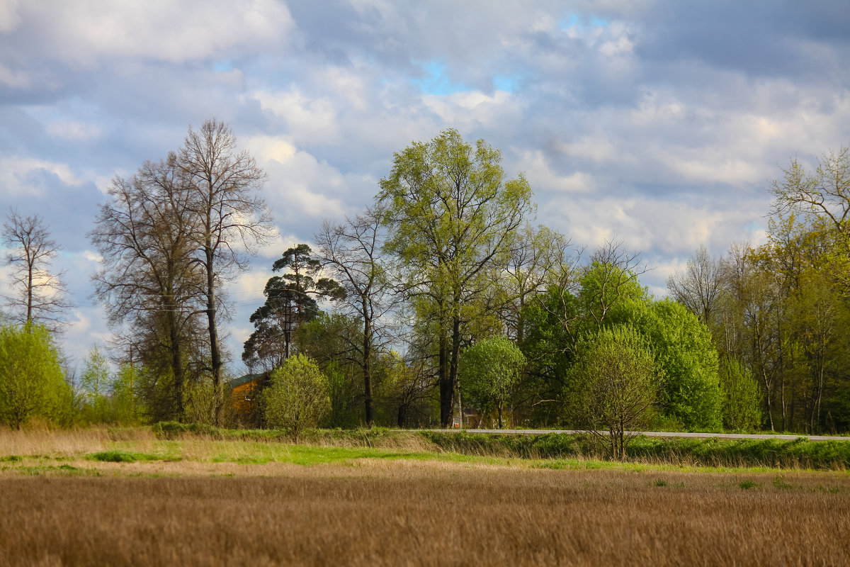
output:
<path id="1" fill-rule="evenodd" d="M 662 376 L 641 333 L 632 326 L 604 328 L 579 346 L 567 416 L 602 440 L 611 456 L 624 459 L 636 430 L 655 415 Z"/>

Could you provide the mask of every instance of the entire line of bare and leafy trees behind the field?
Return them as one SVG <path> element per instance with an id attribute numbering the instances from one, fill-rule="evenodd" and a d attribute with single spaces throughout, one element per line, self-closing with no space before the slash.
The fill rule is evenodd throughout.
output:
<path id="1" fill-rule="evenodd" d="M 208 121 L 114 180 L 90 237 L 117 371 L 89 355 L 62 394 L 78 416 L 296 434 L 562 426 L 598 432 L 615 455 L 634 428 L 850 428 L 847 150 L 813 172 L 792 162 L 771 188 L 767 243 L 723 258 L 700 247 L 659 300 L 638 252 L 609 241 L 587 253 L 536 224 L 524 176 L 445 130 L 394 155 L 369 207 L 281 253 L 250 317 L 249 375 L 229 381 L 226 284 L 271 235 L 265 175 L 235 142 Z M 24 219 L 4 236 L 30 258 Z M 21 315 L 36 280 L 15 274 Z M 4 332 L 51 343 L 27 313 Z M 233 400 L 246 380 L 251 394 Z"/>

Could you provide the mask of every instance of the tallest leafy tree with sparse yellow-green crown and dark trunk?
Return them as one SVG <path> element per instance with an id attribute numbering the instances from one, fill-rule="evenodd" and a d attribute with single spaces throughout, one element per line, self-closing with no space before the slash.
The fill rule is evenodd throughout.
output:
<path id="1" fill-rule="evenodd" d="M 451 129 L 396 153 L 381 180 L 385 247 L 405 264 L 405 290 L 437 328 L 444 427 L 455 400 L 463 327 L 492 285 L 488 270 L 507 264 L 516 230 L 532 211 L 530 199 L 522 175 L 505 179 L 498 150 L 484 140 L 473 148 Z"/>

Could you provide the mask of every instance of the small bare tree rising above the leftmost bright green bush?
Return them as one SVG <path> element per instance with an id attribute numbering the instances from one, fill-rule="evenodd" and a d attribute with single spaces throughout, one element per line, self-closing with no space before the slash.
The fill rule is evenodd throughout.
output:
<path id="1" fill-rule="evenodd" d="M 63 272 L 52 273 L 50 264 L 61 247 L 50 237 L 38 215 L 26 216 L 11 209 L 3 224 L 3 241 L 9 248 L 6 263 L 12 266 L 14 296 L 7 298 L 14 320 L 33 320 L 59 331 L 64 314 L 74 305 L 67 296 Z"/>

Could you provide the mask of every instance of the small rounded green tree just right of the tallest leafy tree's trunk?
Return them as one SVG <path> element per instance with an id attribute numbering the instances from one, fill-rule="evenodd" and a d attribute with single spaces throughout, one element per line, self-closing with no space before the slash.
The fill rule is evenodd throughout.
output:
<path id="1" fill-rule="evenodd" d="M 482 405 L 493 405 L 501 415 L 505 402 L 519 382 L 525 357 L 507 337 L 489 337 L 465 349 L 461 355 L 461 377 L 467 390 Z"/>

